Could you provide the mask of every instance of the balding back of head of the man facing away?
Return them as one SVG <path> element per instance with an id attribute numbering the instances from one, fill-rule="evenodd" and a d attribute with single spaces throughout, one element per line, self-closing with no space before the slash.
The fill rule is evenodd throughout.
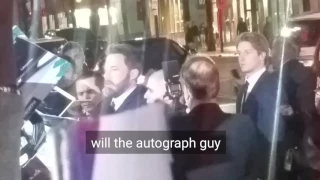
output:
<path id="1" fill-rule="evenodd" d="M 219 71 L 207 56 L 189 57 L 181 68 L 181 81 L 186 105 L 192 109 L 197 104 L 214 100 L 220 89 Z"/>

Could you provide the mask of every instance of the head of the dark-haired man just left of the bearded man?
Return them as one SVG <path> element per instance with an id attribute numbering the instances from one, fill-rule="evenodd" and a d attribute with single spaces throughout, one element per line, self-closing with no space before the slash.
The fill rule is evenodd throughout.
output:
<path id="1" fill-rule="evenodd" d="M 95 72 L 86 72 L 76 81 L 77 99 L 81 109 L 92 112 L 102 100 L 103 77 Z"/>

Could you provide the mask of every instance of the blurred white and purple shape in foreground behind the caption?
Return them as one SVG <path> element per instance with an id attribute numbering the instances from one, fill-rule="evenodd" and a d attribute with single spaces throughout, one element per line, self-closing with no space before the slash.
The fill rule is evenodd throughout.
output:
<path id="1" fill-rule="evenodd" d="M 96 148 L 94 154 L 86 153 L 86 146 L 88 145 L 86 144 L 86 131 L 99 131 L 96 139 L 106 138 L 106 132 L 115 132 L 117 137 L 122 137 L 122 139 L 128 138 L 131 131 L 137 132 L 147 139 L 150 137 L 150 132 L 145 131 L 165 133 L 168 128 L 164 109 L 163 104 L 151 104 L 136 110 L 102 116 L 99 121 L 79 121 L 75 124 L 69 129 L 71 135 L 68 136 L 70 138 L 68 138 L 68 144 L 70 148 L 71 179 L 173 180 L 170 152 L 167 154 L 129 154 L 121 153 L 120 148 L 116 150 L 119 154 L 106 154 L 103 152 L 108 151 L 108 149 Z M 102 131 L 105 132 L 101 133 Z M 129 137 L 129 139 L 135 142 L 139 138 Z M 133 144 L 133 152 L 141 150 L 134 146 L 135 144 Z"/>

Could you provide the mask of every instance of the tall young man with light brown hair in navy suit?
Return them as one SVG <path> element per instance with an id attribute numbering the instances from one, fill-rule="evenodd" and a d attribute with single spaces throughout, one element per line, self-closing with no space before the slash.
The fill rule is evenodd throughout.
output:
<path id="1" fill-rule="evenodd" d="M 282 98 L 278 92 L 277 76 L 270 75 L 266 69 L 268 41 L 258 33 L 243 33 L 237 49 L 246 80 L 237 97 L 237 113 L 249 115 L 256 126 L 259 178 L 283 178 L 284 121 L 277 113 Z"/>

